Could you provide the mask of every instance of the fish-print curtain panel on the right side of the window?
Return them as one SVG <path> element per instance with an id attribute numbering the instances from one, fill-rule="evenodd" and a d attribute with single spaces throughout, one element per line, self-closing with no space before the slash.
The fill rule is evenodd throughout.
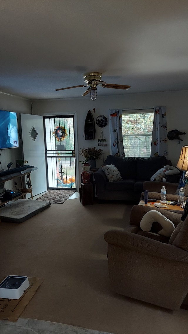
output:
<path id="1" fill-rule="evenodd" d="M 168 155 L 166 107 L 154 108 L 151 157 L 158 155 Z"/>

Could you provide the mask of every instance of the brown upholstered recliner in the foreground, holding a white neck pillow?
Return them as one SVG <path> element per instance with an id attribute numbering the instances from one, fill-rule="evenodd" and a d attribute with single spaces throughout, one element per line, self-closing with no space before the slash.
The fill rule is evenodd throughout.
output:
<path id="1" fill-rule="evenodd" d="M 177 310 L 188 293 L 188 252 L 168 244 L 169 239 L 162 240 L 155 229 L 149 232 L 150 235 L 143 235 L 148 232 L 141 231 L 140 221 L 146 212 L 153 209 L 156 208 L 134 205 L 130 225 L 125 230 L 105 233 L 104 238 L 108 242 L 109 289 Z M 173 221 L 175 227 L 182 216 L 168 210 L 156 210 Z"/>

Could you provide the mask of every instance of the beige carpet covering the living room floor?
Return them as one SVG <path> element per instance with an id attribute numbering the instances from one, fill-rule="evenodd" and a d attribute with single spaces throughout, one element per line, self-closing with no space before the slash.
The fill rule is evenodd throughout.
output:
<path id="1" fill-rule="evenodd" d="M 43 278 L 21 317 L 117 334 L 187 334 L 188 311 L 169 311 L 108 291 L 104 233 L 124 228 L 131 205 L 51 204 L 21 224 L 0 223 L 5 275 Z"/>

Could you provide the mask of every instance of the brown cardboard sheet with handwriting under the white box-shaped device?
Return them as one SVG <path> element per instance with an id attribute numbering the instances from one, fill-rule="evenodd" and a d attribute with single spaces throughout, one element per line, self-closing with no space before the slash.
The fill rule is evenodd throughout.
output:
<path id="1" fill-rule="evenodd" d="M 0 320 L 8 319 L 9 321 L 17 321 L 20 314 L 43 282 L 43 279 L 37 277 L 28 277 L 28 280 L 29 287 L 19 299 L 0 298 Z"/>

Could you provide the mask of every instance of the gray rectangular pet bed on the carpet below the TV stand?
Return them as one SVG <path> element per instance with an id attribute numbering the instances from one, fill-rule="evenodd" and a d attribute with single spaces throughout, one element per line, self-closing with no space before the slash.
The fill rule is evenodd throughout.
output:
<path id="1" fill-rule="evenodd" d="M 48 201 L 18 199 L 11 206 L 0 208 L 1 221 L 22 223 L 51 205 Z"/>

